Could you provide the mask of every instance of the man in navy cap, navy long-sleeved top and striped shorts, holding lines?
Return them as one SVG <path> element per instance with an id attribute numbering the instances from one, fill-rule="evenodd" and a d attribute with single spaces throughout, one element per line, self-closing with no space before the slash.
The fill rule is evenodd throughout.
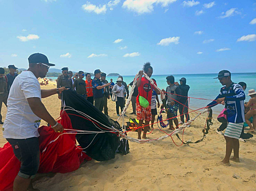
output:
<path id="1" fill-rule="evenodd" d="M 224 134 L 226 140 L 226 155 L 219 163 L 230 166 L 230 156 L 234 150 L 234 157 L 231 160 L 240 162 L 239 160 L 239 138 L 244 123 L 244 99 L 246 98 L 242 86 L 231 81 L 231 73 L 227 70 L 221 70 L 218 74 L 220 83 L 223 85 L 220 93 L 212 103 L 207 105 L 208 108 L 225 102 L 227 113 L 227 128 Z"/>

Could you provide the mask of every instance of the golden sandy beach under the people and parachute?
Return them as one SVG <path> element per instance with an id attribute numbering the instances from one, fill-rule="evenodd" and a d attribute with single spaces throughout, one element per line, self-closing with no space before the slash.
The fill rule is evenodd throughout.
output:
<path id="1" fill-rule="evenodd" d="M 49 83 L 41 88 L 56 87 L 55 82 Z M 57 95 L 43 99 L 43 104 L 54 118 L 59 117 L 61 104 Z M 116 120 L 115 103 L 109 100 L 108 104 L 109 115 Z M 6 111 L 3 105 L 3 121 Z M 131 105 L 127 121 L 135 117 L 129 115 L 130 112 Z M 185 129 L 184 140 L 201 139 L 205 121 L 206 116 L 198 117 Z M 170 138 L 153 144 L 129 142 L 130 153 L 126 156 L 117 154 L 115 159 L 105 162 L 92 160 L 67 174 L 38 174 L 33 186 L 39 190 L 255 190 L 255 134 L 247 142 L 240 142 L 241 163 L 231 161 L 230 167 L 218 166 L 225 154 L 225 140 L 215 132 L 220 123 L 216 119 L 213 123 L 207 138 L 198 144 L 178 147 Z M 41 125 L 45 124 L 42 121 Z M 128 135 L 136 138 L 137 133 Z M 162 135 L 159 130 L 153 130 L 149 138 Z M 177 145 L 181 144 L 176 137 L 173 139 Z M 1 131 L 0 146 L 6 142 Z M 234 174 L 238 178 L 234 178 Z"/>

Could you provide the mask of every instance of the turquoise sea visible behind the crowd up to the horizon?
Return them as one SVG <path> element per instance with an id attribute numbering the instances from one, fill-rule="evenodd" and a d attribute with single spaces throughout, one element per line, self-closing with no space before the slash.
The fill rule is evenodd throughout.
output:
<path id="1" fill-rule="evenodd" d="M 157 82 L 157 86 L 161 89 L 166 89 L 168 86 L 166 83 L 166 76 L 168 75 L 152 75 L 151 78 L 155 79 Z M 181 77 L 186 77 L 187 85 L 190 86 L 189 97 L 195 98 L 204 98 L 204 99 L 215 99 L 221 88 L 221 83 L 218 79 L 213 79 L 217 77 L 218 74 L 177 74 L 173 75 L 175 77 L 175 81 L 179 81 Z M 52 79 L 56 79 L 56 77 L 51 77 Z M 110 81 L 113 79 L 115 82 L 117 80 L 117 76 L 107 76 L 106 79 Z M 123 76 L 123 80 L 128 84 L 133 81 L 134 76 Z M 233 82 L 246 82 L 246 101 L 248 102 L 249 89 L 256 89 L 256 73 L 233 73 L 231 76 Z M 190 99 L 190 108 L 199 109 L 206 106 L 210 103 L 211 100 L 198 100 L 198 99 Z M 218 114 L 223 109 L 222 105 L 217 105 L 213 108 L 213 112 Z"/>

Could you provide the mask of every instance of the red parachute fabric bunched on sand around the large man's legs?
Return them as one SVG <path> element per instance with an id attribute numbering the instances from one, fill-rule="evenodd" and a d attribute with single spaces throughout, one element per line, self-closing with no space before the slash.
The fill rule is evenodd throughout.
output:
<path id="1" fill-rule="evenodd" d="M 59 121 L 65 129 L 72 129 L 69 116 L 64 112 Z M 38 129 L 40 166 L 39 173 L 72 172 L 79 168 L 84 160 L 92 160 L 83 150 L 76 147 L 76 134 L 60 134 L 48 126 Z M 65 132 L 64 132 L 65 133 Z M 0 148 L 0 190 L 13 187 L 18 175 L 20 162 L 14 156 L 12 146 L 7 142 Z"/>

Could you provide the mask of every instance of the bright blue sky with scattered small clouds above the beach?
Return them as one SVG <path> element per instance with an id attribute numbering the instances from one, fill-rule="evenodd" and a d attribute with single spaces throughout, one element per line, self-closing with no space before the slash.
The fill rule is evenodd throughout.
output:
<path id="1" fill-rule="evenodd" d="M 255 72 L 255 1 L 0 0 L 0 64 L 134 75 Z M 116 43 L 114 43 L 116 42 Z"/>

